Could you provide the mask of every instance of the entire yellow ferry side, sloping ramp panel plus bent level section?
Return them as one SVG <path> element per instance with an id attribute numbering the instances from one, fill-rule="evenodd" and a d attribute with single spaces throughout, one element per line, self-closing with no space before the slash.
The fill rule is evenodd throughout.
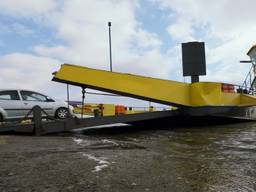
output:
<path id="1" fill-rule="evenodd" d="M 221 83 L 181 83 L 70 64 L 63 64 L 53 80 L 174 107 L 256 105 L 254 96 L 222 92 Z"/>

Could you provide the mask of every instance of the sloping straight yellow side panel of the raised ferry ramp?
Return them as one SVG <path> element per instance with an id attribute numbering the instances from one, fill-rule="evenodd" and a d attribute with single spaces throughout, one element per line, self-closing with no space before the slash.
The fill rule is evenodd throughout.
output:
<path id="1" fill-rule="evenodd" d="M 157 103 L 189 106 L 188 83 L 63 64 L 53 81 L 116 93 Z"/>

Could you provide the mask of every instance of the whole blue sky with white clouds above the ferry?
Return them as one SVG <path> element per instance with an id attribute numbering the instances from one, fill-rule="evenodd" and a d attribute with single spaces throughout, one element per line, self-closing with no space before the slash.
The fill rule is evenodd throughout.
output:
<path id="1" fill-rule="evenodd" d="M 242 84 L 256 43 L 255 0 L 0 0 L 0 89 L 35 90 L 66 99 L 52 82 L 62 63 L 184 81 L 181 43 L 203 41 L 202 81 Z M 189 82 L 189 78 L 185 78 Z M 81 89 L 71 87 L 71 99 Z M 86 102 L 145 104 L 86 95 Z"/>

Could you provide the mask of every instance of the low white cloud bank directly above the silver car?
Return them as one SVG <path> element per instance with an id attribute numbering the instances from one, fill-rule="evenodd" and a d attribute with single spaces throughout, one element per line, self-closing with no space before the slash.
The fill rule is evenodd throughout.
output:
<path id="1" fill-rule="evenodd" d="M 12 53 L 0 56 L 1 89 L 31 89 L 51 91 L 55 87 L 50 80 L 52 72 L 58 70 L 59 61 L 24 53 Z M 56 94 L 58 95 L 58 94 Z"/>

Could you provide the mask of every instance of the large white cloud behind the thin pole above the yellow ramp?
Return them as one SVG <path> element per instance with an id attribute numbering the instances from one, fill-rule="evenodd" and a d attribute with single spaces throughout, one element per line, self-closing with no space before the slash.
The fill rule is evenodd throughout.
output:
<path id="1" fill-rule="evenodd" d="M 65 1 L 47 15 L 64 44 L 37 45 L 36 54 L 93 68 L 109 69 L 107 22 L 112 22 L 113 69 L 168 78 L 173 64 L 160 51 L 162 41 L 136 19 L 138 1 Z M 98 14 L 100 13 L 100 14 Z"/>

